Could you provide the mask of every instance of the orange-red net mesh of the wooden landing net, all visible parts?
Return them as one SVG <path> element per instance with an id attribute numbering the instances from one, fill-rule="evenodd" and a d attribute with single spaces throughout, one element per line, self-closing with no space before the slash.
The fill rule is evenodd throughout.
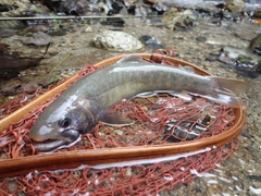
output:
<path id="1" fill-rule="evenodd" d="M 174 66 L 178 64 L 172 64 Z M 95 71 L 91 65 L 79 77 Z M 22 107 L 42 90 L 25 91 L 24 95 L 0 108 L 1 118 Z M 57 96 L 55 96 L 57 97 Z M 55 98 L 54 97 L 54 98 Z M 54 98 L 52 100 L 54 100 Z M 51 103 L 48 100 L 23 120 L 11 124 L 0 136 L 0 159 L 14 159 L 36 155 L 28 132 L 39 113 Z M 98 123 L 94 133 L 67 149 L 58 151 L 117 148 L 144 145 L 183 143 L 219 135 L 234 125 L 234 109 L 206 98 L 192 97 L 192 101 L 158 94 L 151 97 L 123 100 L 111 108 L 121 111 L 135 123 L 126 126 L 109 126 Z M 32 172 L 17 177 L 0 180 L 0 195 L 148 195 L 173 188 L 178 183 L 189 183 L 197 177 L 191 170 L 203 173 L 232 156 L 238 148 L 236 138 L 225 146 L 181 157 L 172 161 L 94 169 L 89 167 Z M 54 152 L 55 154 L 55 152 Z M 77 161 L 77 160 L 76 160 Z"/>

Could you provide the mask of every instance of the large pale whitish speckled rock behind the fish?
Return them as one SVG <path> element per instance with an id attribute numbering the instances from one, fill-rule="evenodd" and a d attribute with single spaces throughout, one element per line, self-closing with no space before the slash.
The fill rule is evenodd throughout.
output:
<path id="1" fill-rule="evenodd" d="M 91 44 L 97 48 L 110 51 L 135 51 L 144 48 L 144 45 L 134 36 L 124 32 L 104 30 L 97 35 Z"/>

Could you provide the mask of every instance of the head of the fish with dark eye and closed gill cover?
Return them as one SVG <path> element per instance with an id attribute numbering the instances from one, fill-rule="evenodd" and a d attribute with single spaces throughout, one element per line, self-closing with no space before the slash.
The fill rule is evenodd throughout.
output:
<path id="1" fill-rule="evenodd" d="M 51 151 L 69 146 L 97 123 L 98 108 L 92 101 L 71 96 L 57 99 L 39 115 L 29 132 L 36 151 Z"/>

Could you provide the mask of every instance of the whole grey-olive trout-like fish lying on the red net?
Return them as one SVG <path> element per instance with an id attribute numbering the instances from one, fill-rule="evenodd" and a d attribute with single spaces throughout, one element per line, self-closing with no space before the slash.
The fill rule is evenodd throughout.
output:
<path id="1" fill-rule="evenodd" d="M 109 112 L 110 108 L 142 93 L 189 93 L 238 108 L 243 105 L 238 95 L 247 88 L 248 83 L 244 81 L 202 76 L 191 69 L 150 63 L 130 54 L 71 85 L 39 114 L 29 137 L 36 151 L 49 152 L 91 133 L 99 121 L 126 124 L 123 115 Z"/>

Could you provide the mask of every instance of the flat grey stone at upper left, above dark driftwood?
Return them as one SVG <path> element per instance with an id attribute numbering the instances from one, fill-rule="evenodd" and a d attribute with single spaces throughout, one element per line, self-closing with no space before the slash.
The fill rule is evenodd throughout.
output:
<path id="1" fill-rule="evenodd" d="M 23 39 L 23 44 L 25 45 L 47 46 L 50 42 L 52 42 L 51 37 L 42 32 L 34 34 L 33 37 Z"/>

